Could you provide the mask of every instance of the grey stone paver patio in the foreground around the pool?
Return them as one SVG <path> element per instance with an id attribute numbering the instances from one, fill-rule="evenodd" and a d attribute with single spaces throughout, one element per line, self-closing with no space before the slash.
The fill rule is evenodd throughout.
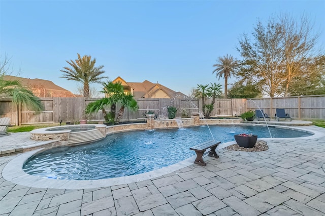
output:
<path id="1" fill-rule="evenodd" d="M 325 128 L 302 128 L 320 134 L 266 139 L 264 152 L 221 149 L 207 166 L 93 189 L 16 185 L 2 171 L 17 155 L 3 156 L 0 215 L 325 215 Z"/>

